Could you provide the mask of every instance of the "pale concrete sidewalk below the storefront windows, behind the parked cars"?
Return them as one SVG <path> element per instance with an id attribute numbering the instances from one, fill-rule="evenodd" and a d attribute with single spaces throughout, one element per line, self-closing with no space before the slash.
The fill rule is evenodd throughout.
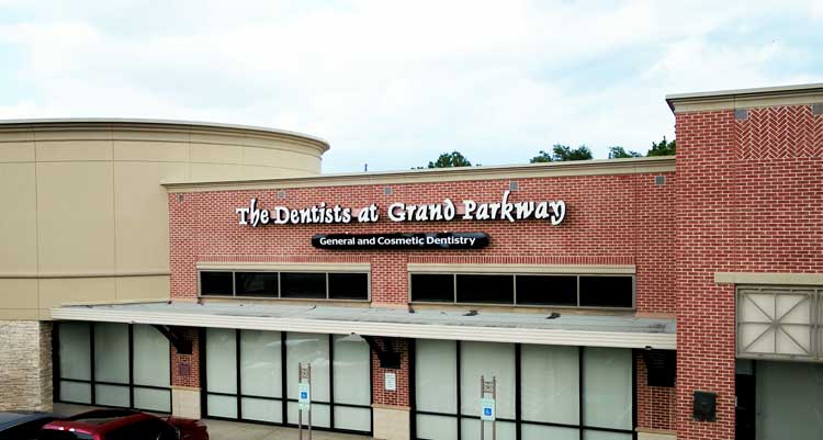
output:
<path id="1" fill-rule="evenodd" d="M 54 411 L 65 416 L 71 416 L 91 409 L 94 409 L 94 407 L 58 403 L 54 404 Z M 203 421 L 208 427 L 208 437 L 211 440 L 297 440 L 298 438 L 295 428 L 212 419 L 203 419 Z M 303 439 L 308 439 L 305 430 L 303 431 Z M 312 440 L 371 440 L 371 437 L 313 431 Z"/>

